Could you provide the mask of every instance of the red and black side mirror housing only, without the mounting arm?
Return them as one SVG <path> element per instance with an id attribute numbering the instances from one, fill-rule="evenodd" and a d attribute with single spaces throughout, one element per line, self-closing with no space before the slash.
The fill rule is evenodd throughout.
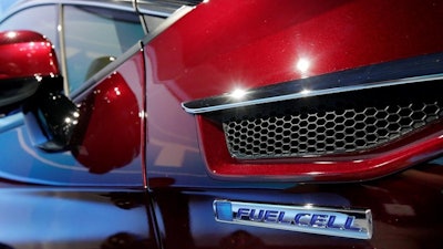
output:
<path id="1" fill-rule="evenodd" d="M 60 75 L 52 44 L 39 33 L 1 32 L 0 54 L 0 110 L 21 104 L 44 79 Z"/>

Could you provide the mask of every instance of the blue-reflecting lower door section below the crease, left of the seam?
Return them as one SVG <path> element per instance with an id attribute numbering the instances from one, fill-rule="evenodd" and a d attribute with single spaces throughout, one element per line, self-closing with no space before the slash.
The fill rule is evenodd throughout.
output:
<path id="1" fill-rule="evenodd" d="M 156 248 L 144 191 L 3 183 L 0 199 L 2 248 Z"/>

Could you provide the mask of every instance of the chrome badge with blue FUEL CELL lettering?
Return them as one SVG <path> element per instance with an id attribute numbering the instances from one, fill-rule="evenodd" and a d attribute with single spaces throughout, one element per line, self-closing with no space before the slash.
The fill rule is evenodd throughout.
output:
<path id="1" fill-rule="evenodd" d="M 353 239 L 372 237 L 372 216 L 369 209 L 215 200 L 214 211 L 215 219 L 220 222 Z"/>

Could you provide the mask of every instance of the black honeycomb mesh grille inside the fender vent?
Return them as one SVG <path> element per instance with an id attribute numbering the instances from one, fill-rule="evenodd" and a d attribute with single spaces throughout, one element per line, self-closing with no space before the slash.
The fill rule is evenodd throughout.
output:
<path id="1" fill-rule="evenodd" d="M 219 113 L 233 157 L 306 157 L 371 149 L 443 115 L 435 82 L 364 90 Z"/>

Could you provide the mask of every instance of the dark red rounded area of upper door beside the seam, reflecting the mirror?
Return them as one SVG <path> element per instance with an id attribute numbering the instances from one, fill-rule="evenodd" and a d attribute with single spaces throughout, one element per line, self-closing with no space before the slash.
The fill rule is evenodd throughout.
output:
<path id="1" fill-rule="evenodd" d="M 104 174 L 130 164 L 142 167 L 143 92 L 138 53 L 81 97 L 72 153 L 90 172 Z"/>

